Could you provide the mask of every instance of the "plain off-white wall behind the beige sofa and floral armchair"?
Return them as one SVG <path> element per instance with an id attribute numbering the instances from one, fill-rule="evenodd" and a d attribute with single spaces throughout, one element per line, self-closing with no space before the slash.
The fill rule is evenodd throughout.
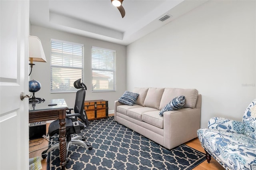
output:
<path id="1" fill-rule="evenodd" d="M 195 88 L 201 127 L 242 120 L 255 96 L 255 1 L 209 1 L 127 46 L 127 89 Z"/>

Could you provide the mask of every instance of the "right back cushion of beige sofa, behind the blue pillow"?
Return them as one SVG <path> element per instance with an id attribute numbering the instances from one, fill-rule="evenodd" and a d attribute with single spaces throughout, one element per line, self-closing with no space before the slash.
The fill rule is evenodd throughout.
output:
<path id="1" fill-rule="evenodd" d="M 194 108 L 196 106 L 196 100 L 198 96 L 198 90 L 196 89 L 180 89 L 180 88 L 165 88 L 160 102 L 159 110 L 167 105 L 172 99 L 177 96 L 185 96 L 186 102 L 184 107 Z"/>

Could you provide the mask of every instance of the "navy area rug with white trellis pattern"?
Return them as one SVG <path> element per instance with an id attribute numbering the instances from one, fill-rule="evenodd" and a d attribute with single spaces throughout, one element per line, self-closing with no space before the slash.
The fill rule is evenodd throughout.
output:
<path id="1" fill-rule="evenodd" d="M 191 170 L 205 154 L 184 144 L 168 150 L 150 139 L 120 125 L 114 117 L 90 121 L 80 134 L 92 150 L 71 145 L 66 169 L 70 170 Z M 53 143 L 58 136 L 52 138 Z M 47 156 L 47 169 L 60 168 L 59 150 Z"/>

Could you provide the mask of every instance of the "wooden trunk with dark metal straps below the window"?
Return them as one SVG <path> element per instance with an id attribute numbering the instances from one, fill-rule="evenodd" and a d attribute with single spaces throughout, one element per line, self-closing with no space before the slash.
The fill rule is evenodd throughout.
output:
<path id="1" fill-rule="evenodd" d="M 89 100 L 84 101 L 84 110 L 88 120 L 102 119 L 108 117 L 108 101 Z"/>

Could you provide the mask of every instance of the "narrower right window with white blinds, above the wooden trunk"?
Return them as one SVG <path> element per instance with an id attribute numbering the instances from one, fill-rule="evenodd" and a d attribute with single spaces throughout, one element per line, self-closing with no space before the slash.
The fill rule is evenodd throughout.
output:
<path id="1" fill-rule="evenodd" d="M 92 91 L 116 91 L 116 51 L 92 47 Z"/>

